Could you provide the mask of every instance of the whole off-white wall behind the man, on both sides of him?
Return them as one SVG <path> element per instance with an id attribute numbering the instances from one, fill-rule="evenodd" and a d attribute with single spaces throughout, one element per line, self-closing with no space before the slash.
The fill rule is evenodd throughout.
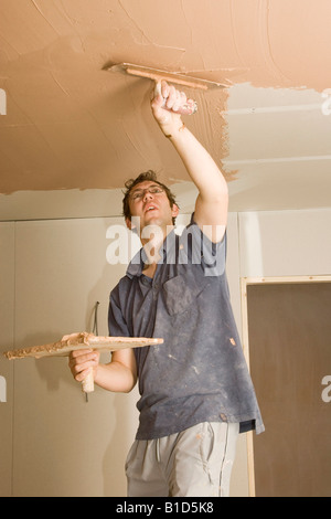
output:
<path id="1" fill-rule="evenodd" d="M 99 333 L 107 333 L 108 295 L 126 266 L 107 263 L 106 231 L 121 223 L 0 224 L 1 351 L 90 329 L 96 300 Z M 227 275 L 239 328 L 239 277 L 330 274 L 330 209 L 229 214 Z M 8 402 L 0 403 L 1 496 L 125 496 L 136 390 L 121 395 L 96 388 L 86 403 L 66 359 L 1 359 L 0 375 L 8 381 Z M 232 495 L 247 492 L 242 435 Z"/>

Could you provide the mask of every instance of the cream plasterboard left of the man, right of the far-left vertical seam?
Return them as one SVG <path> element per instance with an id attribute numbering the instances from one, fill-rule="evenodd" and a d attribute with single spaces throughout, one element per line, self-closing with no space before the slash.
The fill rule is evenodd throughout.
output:
<path id="1" fill-rule="evenodd" d="M 125 265 L 107 264 L 106 231 L 118 223 L 17 223 L 18 347 L 92 330 L 97 300 L 98 332 L 108 335 L 109 290 Z M 13 495 L 124 496 L 124 459 L 137 421 L 134 394 L 96 388 L 86 403 L 65 358 L 26 359 L 14 368 Z"/>

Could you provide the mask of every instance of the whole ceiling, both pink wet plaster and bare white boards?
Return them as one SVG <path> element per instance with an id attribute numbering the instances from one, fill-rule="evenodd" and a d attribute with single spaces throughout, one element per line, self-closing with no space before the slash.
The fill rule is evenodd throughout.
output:
<path id="1" fill-rule="evenodd" d="M 185 124 L 231 209 L 331 205 L 330 23 L 330 0 L 0 0 L 0 218 L 60 190 L 86 206 L 147 169 L 190 191 L 151 82 L 104 70 L 121 62 L 228 85 L 188 91 Z"/>

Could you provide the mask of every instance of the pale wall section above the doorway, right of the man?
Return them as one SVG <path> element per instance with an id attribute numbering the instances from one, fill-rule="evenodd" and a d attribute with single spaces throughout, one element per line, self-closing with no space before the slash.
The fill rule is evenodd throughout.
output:
<path id="1" fill-rule="evenodd" d="M 331 209 L 239 213 L 241 276 L 330 274 Z"/>

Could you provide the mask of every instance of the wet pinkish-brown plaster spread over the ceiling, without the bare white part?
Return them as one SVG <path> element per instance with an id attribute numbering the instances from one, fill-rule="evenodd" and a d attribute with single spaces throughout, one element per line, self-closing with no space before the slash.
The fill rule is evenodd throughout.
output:
<path id="1" fill-rule="evenodd" d="M 0 192 L 113 189 L 150 168 L 188 180 L 151 116 L 151 83 L 105 65 L 322 92 L 330 18 L 329 0 L 2 0 Z M 186 126 L 221 166 L 228 92 L 188 94 L 199 113 Z"/>

